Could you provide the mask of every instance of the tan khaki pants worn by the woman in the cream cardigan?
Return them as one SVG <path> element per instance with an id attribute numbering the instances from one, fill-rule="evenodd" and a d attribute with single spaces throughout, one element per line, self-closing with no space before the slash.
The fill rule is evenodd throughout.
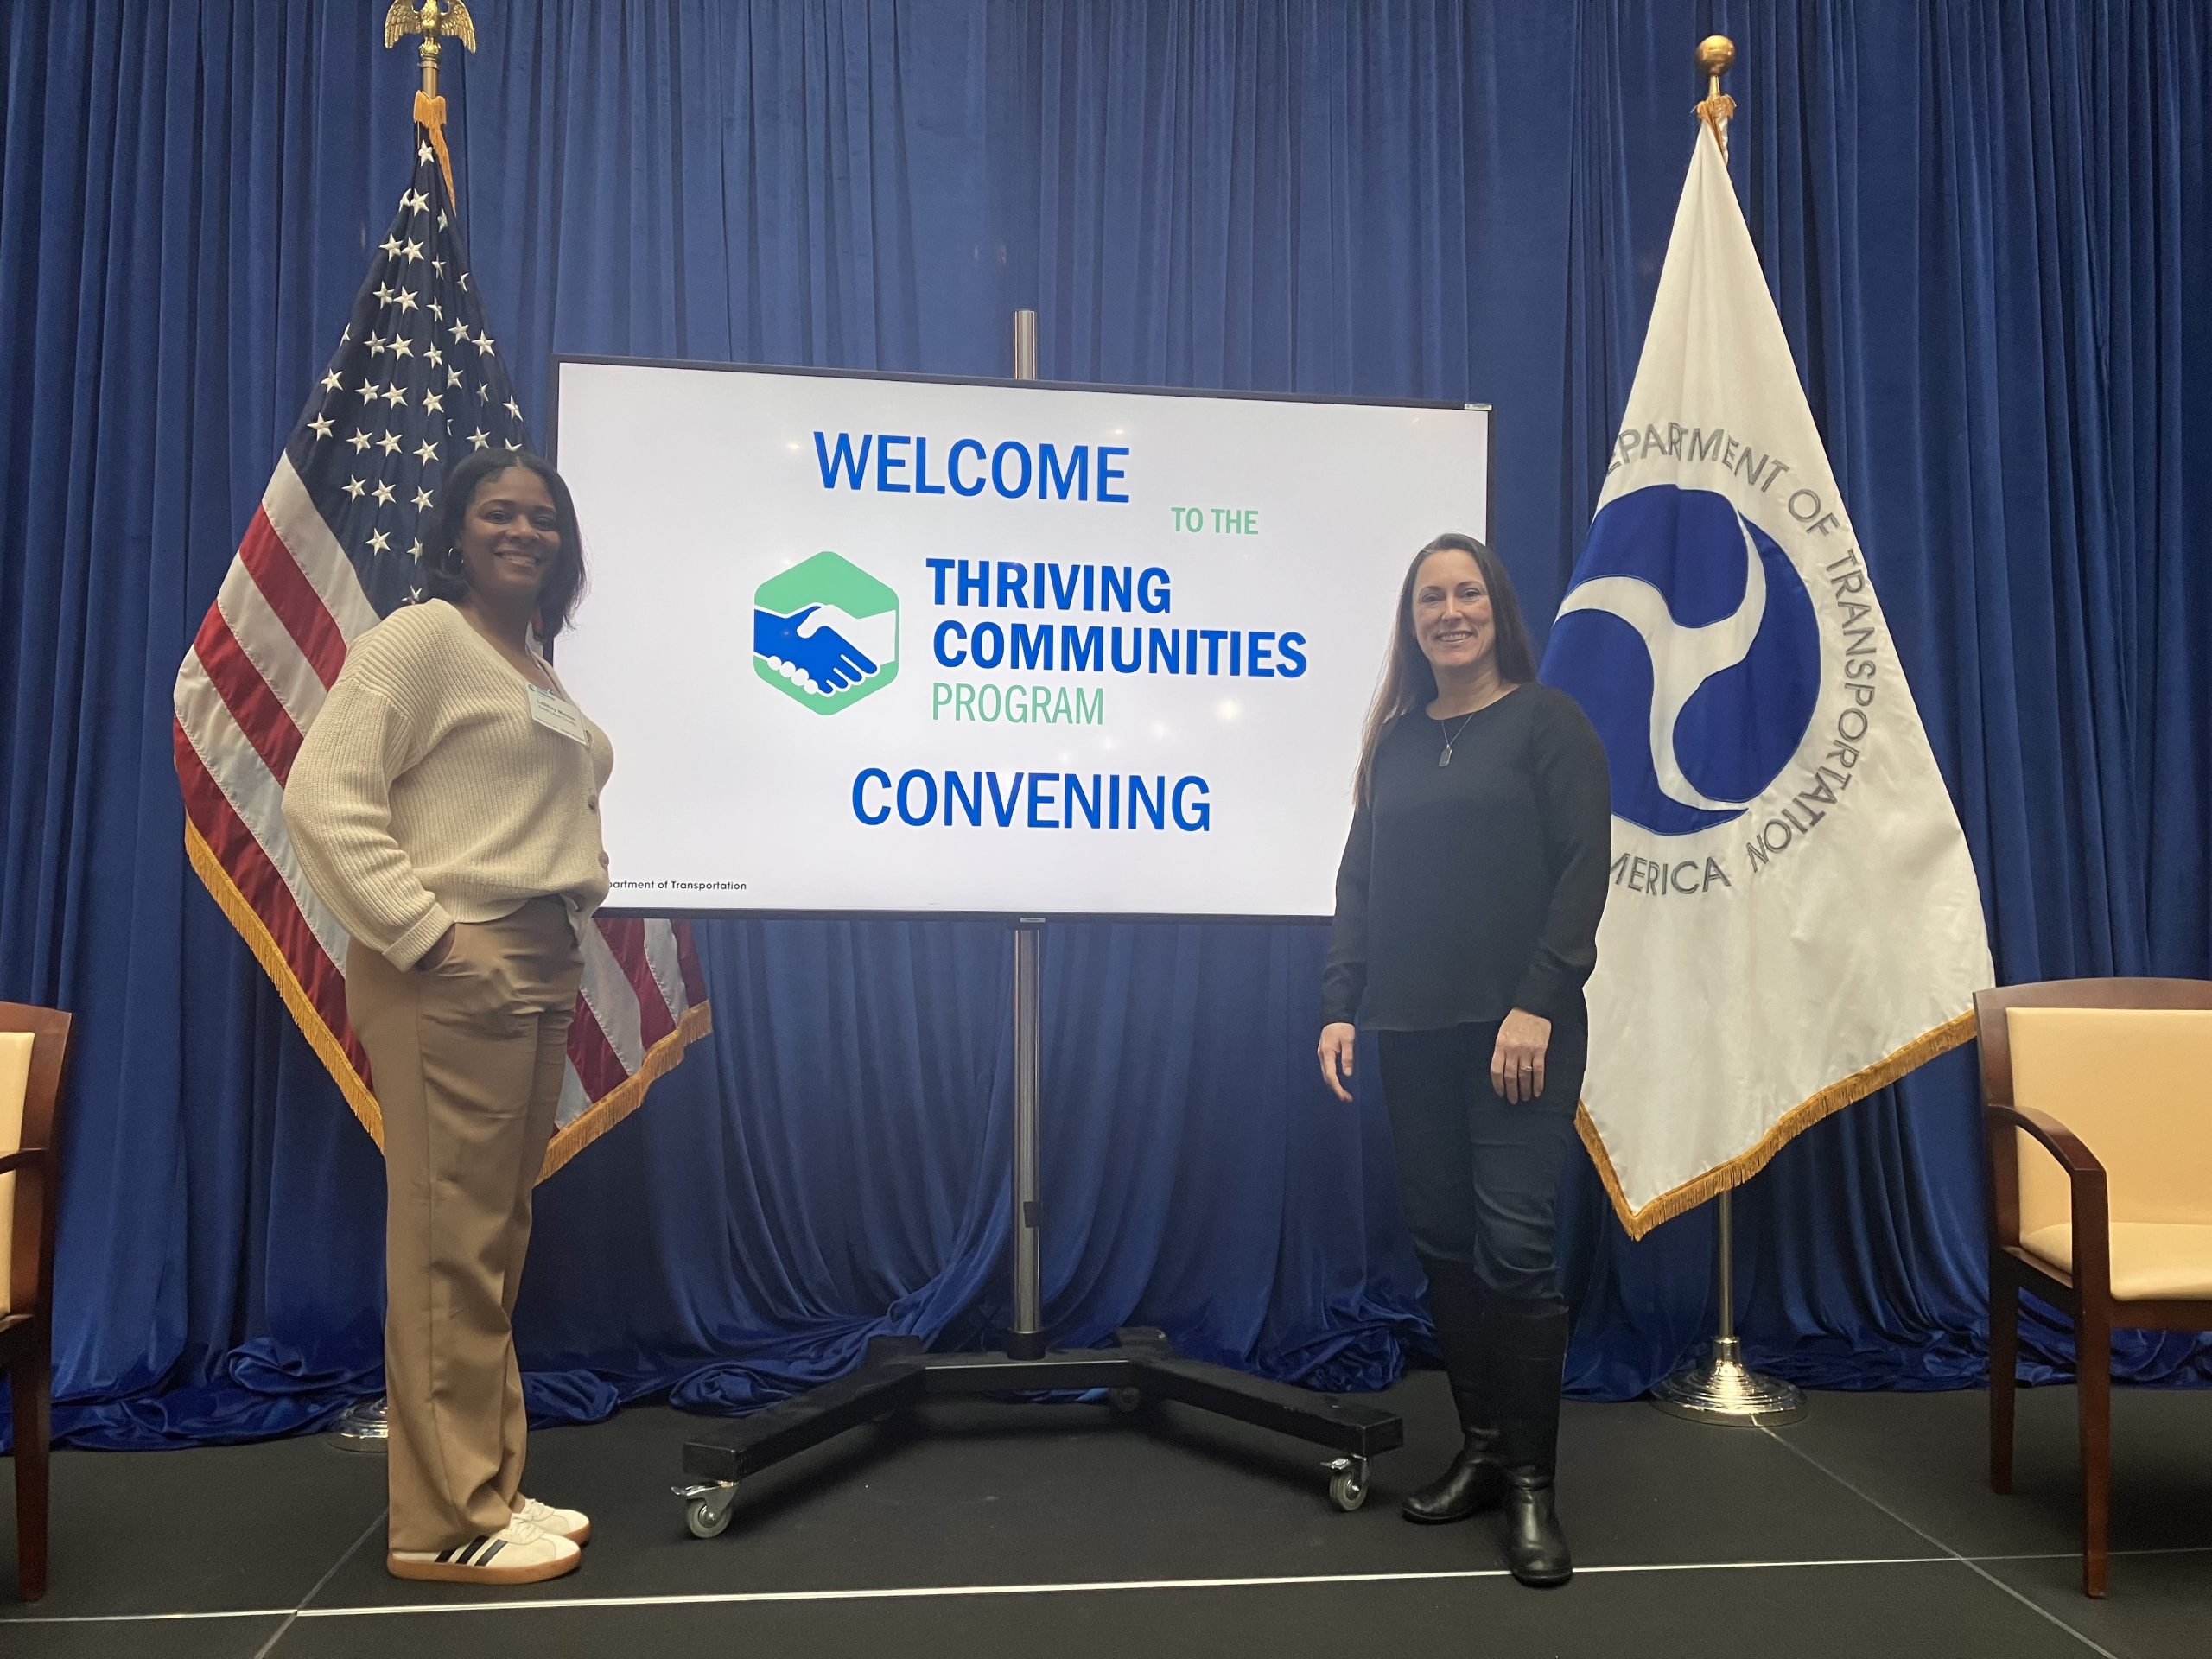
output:
<path id="1" fill-rule="evenodd" d="M 385 1115 L 385 1396 L 396 1551 L 495 1533 L 522 1486 L 511 1316 L 582 956 L 533 898 L 462 922 L 429 971 L 354 942 L 345 1009 Z"/>

